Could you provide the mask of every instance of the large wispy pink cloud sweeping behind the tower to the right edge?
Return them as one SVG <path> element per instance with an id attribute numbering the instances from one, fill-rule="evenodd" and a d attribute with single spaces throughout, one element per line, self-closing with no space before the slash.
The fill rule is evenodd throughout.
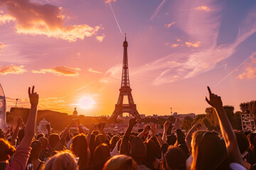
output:
<path id="1" fill-rule="evenodd" d="M 203 2 L 206 3 L 201 0 L 177 1 L 176 8 L 171 8 L 176 27 L 186 34 L 188 40 L 191 40 L 185 41 L 187 42 L 185 45 L 200 48 L 174 52 L 153 62 L 132 68 L 130 75 L 134 79 L 149 81 L 152 85 L 161 85 L 208 72 L 214 69 L 218 62 L 233 55 L 236 47 L 256 32 L 255 23 L 251 23 L 246 28 L 240 28 L 233 42 L 218 45 L 221 8 L 216 1 L 207 1 L 206 6 L 214 10 L 202 15 L 202 11 L 194 10 L 194 8 Z M 121 72 L 121 65 L 114 66 L 106 72 L 102 81 L 116 80 Z"/>

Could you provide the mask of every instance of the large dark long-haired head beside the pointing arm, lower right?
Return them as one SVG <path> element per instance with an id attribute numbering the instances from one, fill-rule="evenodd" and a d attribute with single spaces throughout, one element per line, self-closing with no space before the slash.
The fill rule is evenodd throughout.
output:
<path id="1" fill-rule="evenodd" d="M 228 169 L 228 153 L 225 143 L 215 133 L 195 132 L 191 147 L 193 155 L 191 169 Z"/>

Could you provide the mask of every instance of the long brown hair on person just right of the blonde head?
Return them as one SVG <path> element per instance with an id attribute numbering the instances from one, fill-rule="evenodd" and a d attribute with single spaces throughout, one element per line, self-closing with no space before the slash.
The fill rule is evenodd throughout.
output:
<path id="1" fill-rule="evenodd" d="M 88 166 L 88 145 L 84 134 L 76 135 L 73 138 L 71 151 L 79 157 L 79 169 L 83 169 Z"/>

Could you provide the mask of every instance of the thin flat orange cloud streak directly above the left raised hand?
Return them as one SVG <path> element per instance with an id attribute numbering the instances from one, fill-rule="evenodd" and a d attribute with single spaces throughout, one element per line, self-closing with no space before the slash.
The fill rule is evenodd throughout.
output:
<path id="1" fill-rule="evenodd" d="M 76 77 L 79 75 L 80 68 L 70 68 L 70 67 L 53 67 L 51 69 L 39 69 L 39 70 L 33 70 L 32 72 L 35 74 L 46 74 L 46 73 L 52 73 L 56 76 L 68 76 L 68 77 Z"/>

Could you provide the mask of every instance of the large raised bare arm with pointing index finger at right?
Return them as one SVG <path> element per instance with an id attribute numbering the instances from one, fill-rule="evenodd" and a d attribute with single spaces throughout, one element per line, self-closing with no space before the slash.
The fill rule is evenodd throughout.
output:
<path id="1" fill-rule="evenodd" d="M 212 94 L 210 88 L 208 87 L 210 100 L 206 97 L 206 101 L 210 106 L 213 106 L 217 113 L 218 121 L 220 123 L 220 130 L 225 140 L 225 145 L 228 151 L 228 157 L 230 162 L 236 162 L 245 167 L 245 162 L 242 160 L 240 150 L 238 147 L 238 142 L 235 138 L 235 133 L 233 128 L 228 120 L 228 116 L 226 115 L 223 102 L 221 101 L 220 96 Z"/>

